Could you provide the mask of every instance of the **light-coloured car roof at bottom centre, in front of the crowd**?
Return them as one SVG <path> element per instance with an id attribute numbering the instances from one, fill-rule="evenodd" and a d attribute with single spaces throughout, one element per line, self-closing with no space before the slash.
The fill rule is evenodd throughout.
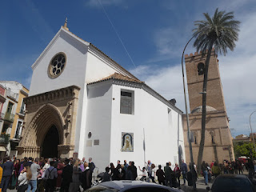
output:
<path id="1" fill-rule="evenodd" d="M 93 186 L 86 192 L 182 192 L 167 186 L 161 186 L 152 182 L 141 181 L 112 181 L 102 182 L 98 186 Z"/>

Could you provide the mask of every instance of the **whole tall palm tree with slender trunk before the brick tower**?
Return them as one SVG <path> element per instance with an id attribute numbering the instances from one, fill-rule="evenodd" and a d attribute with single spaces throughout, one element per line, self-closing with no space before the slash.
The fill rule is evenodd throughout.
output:
<path id="1" fill-rule="evenodd" d="M 196 21 L 194 25 L 194 46 L 198 50 L 202 50 L 202 54 L 207 54 L 204 68 L 204 79 L 202 87 L 202 132 L 201 142 L 198 151 L 198 173 L 201 171 L 202 154 L 205 145 L 206 132 L 206 90 L 208 67 L 210 62 L 210 54 L 214 47 L 216 53 L 227 53 L 227 48 L 234 50 L 235 42 L 238 41 L 238 32 L 240 22 L 234 20 L 234 13 L 215 10 L 214 17 L 210 18 L 208 13 L 204 13 L 206 20 Z"/>

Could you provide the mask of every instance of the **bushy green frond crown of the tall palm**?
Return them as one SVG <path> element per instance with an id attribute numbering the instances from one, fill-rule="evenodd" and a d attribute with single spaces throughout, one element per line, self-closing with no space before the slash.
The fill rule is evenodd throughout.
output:
<path id="1" fill-rule="evenodd" d="M 234 50 L 235 43 L 238 41 L 238 32 L 240 22 L 234 20 L 234 13 L 215 10 L 214 16 L 210 18 L 208 13 L 204 13 L 206 20 L 194 22 L 196 28 L 194 36 L 194 46 L 197 50 L 206 50 L 210 48 L 210 42 L 214 42 L 214 48 L 217 53 L 226 54 L 227 48 Z"/>

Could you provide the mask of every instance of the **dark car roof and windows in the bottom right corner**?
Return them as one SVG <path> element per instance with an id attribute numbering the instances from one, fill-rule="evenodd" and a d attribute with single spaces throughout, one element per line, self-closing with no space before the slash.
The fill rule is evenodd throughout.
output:
<path id="1" fill-rule="evenodd" d="M 250 179 L 243 174 L 221 174 L 215 178 L 211 189 L 209 186 L 206 190 L 211 192 L 255 192 L 254 185 Z"/>

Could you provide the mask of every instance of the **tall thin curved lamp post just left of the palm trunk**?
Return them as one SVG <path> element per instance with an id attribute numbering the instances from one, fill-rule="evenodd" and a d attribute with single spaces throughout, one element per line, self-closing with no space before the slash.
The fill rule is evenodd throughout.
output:
<path id="1" fill-rule="evenodd" d="M 195 35 L 190 38 L 190 41 L 195 37 Z M 186 46 L 190 43 L 188 41 L 186 43 Z M 189 146 L 190 146 L 190 164 L 191 164 L 191 173 L 192 173 L 192 181 L 193 181 L 193 189 L 196 190 L 196 175 L 194 174 L 194 159 L 193 159 L 193 152 L 192 152 L 192 144 L 191 144 L 191 135 L 190 135 L 190 122 L 189 122 L 189 114 L 187 112 L 187 103 L 186 103 L 186 87 L 185 87 L 185 78 L 184 78 L 184 67 L 183 67 L 183 57 L 186 50 L 186 46 L 184 47 L 183 53 L 182 53 L 182 79 L 183 79 L 183 90 L 184 90 L 184 99 L 185 99 L 185 107 L 186 107 L 186 127 L 187 127 L 187 138 L 189 140 Z"/>

